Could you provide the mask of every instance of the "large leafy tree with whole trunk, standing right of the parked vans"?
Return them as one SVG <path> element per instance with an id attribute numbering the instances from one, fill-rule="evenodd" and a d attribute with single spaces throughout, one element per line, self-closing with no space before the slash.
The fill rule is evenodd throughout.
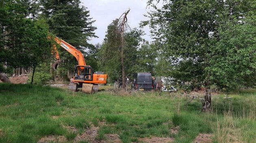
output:
<path id="1" fill-rule="evenodd" d="M 156 2 L 159 1 L 156 0 Z M 247 12 L 255 8 L 255 1 L 163 0 L 162 8 L 157 8 L 154 0 L 149 0 L 148 4 L 156 8 L 156 11 L 150 12 L 148 15 L 150 20 L 144 21 L 143 24 L 150 25 L 157 46 L 161 47 L 162 59 L 166 59 L 171 64 L 169 68 L 163 70 L 169 70 L 169 76 L 174 77 L 175 82 L 182 86 L 186 85 L 191 90 L 204 85 L 203 110 L 210 110 L 210 85 L 219 85 L 219 80 L 209 68 L 214 68 L 211 67 L 213 63 L 211 58 L 218 54 L 215 53 L 215 49 L 222 38 L 220 30 L 227 21 L 232 19 L 245 21 Z M 238 21 L 229 26 L 237 24 L 239 24 Z M 222 46 L 222 48 L 226 47 Z M 245 54 L 239 56 L 241 59 L 246 58 Z M 222 58 L 219 62 L 226 63 L 227 58 L 229 57 Z M 235 63 L 232 65 L 236 66 Z M 240 71 L 234 70 L 236 73 Z M 230 77 L 232 77 L 231 74 Z"/>

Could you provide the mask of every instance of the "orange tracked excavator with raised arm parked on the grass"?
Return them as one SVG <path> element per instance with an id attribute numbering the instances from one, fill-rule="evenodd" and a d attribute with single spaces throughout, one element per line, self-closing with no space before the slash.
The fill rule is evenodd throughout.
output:
<path id="1" fill-rule="evenodd" d="M 86 65 L 85 58 L 82 53 L 77 50 L 74 46 L 68 44 L 64 40 L 61 40 L 58 37 L 55 37 L 54 40 L 65 50 L 71 53 L 76 60 L 78 61 L 78 65 L 75 69 L 75 74 L 73 78 L 70 79 L 70 83 L 68 86 L 69 90 L 78 91 L 82 88 L 82 92 L 84 93 L 94 93 L 98 91 L 98 84 L 106 84 L 107 75 L 106 74 L 95 74 L 93 73 L 93 69 L 91 66 Z M 61 62 L 59 52 L 57 51 L 56 45 L 53 45 L 52 53 L 54 53 L 56 62 L 52 64 L 54 70 L 57 69 L 59 63 Z"/>

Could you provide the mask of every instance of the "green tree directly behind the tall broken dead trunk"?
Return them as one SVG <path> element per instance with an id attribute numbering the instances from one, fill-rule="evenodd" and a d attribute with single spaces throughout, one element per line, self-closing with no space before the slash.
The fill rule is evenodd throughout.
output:
<path id="1" fill-rule="evenodd" d="M 99 65 L 101 70 L 109 75 L 110 82 L 121 82 L 121 35 L 118 19 L 114 20 L 106 32 L 106 37 L 99 50 Z M 139 46 L 142 42 L 143 32 L 138 29 L 131 29 L 124 34 L 124 66 L 125 75 L 130 78 L 134 72 L 141 71 L 139 64 Z"/>

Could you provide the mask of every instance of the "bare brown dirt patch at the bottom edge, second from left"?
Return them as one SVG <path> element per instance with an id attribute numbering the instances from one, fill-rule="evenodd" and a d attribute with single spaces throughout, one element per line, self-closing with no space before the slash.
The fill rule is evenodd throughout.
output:
<path id="1" fill-rule="evenodd" d="M 98 130 L 100 127 L 91 127 L 87 129 L 82 135 L 78 135 L 75 138 L 74 143 L 78 143 L 79 141 L 88 141 L 89 143 L 100 143 L 100 141 L 96 140 L 95 137 L 98 135 Z"/>

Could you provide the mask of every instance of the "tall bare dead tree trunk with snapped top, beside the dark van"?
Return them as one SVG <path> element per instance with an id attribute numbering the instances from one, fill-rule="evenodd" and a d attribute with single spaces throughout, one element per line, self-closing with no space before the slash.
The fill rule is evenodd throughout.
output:
<path id="1" fill-rule="evenodd" d="M 127 22 L 127 14 L 129 13 L 130 9 L 123 13 L 124 18 L 122 19 L 121 22 L 121 66 L 122 66 L 122 87 L 126 87 L 126 78 L 125 78 L 125 70 L 124 70 L 124 27 Z"/>

